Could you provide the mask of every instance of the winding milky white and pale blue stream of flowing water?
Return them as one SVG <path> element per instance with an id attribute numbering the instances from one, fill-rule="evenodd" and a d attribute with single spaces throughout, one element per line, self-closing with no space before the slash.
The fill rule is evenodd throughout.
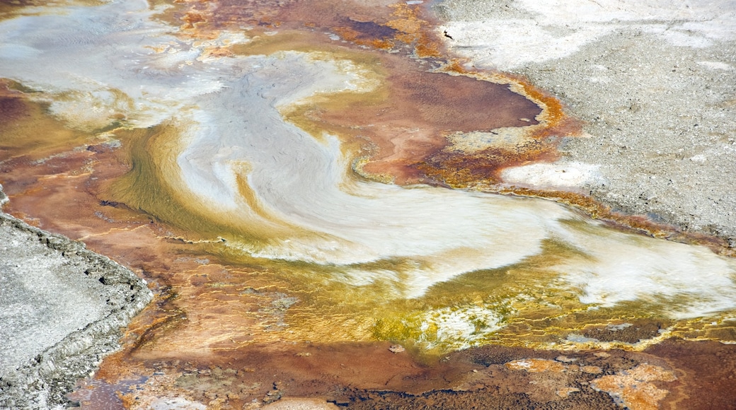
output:
<path id="1" fill-rule="evenodd" d="M 705 248 L 606 229 L 542 199 L 358 178 L 357 154 L 339 137 L 282 116 L 314 96 L 374 90 L 380 77 L 358 62 L 325 51 L 205 58 L 207 46 L 248 40 L 183 40 L 143 1 L 45 13 L 0 23 L 0 76 L 43 91 L 52 114 L 79 129 L 109 126 L 116 113 L 130 128 L 176 129 L 153 155 L 166 190 L 149 195 L 173 193 L 194 218 L 227 226 L 219 236 L 230 251 L 330 267 L 355 287 L 385 282 L 393 298 L 421 298 L 468 273 L 528 270 L 542 256 L 549 262 L 532 277 L 588 309 L 649 303 L 683 319 L 736 308 L 736 263 Z M 401 323 L 461 345 L 503 328 L 526 297 Z"/>

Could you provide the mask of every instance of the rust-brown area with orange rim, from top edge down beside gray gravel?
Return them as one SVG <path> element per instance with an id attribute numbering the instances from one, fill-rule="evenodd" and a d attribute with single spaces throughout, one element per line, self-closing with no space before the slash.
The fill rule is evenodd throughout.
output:
<path id="1" fill-rule="evenodd" d="M 276 6 L 269 1 L 177 2 L 188 7 L 177 14 L 185 35 L 210 38 L 213 30 L 233 26 L 255 26 L 256 30 L 278 27 L 282 32 L 298 30 L 300 41 L 312 46 L 329 43 L 326 34 L 333 33 L 343 42 L 333 41 L 331 46 L 397 51 L 378 56 L 389 70 L 390 95 L 385 103 L 366 105 L 357 101 L 347 109 L 310 113 L 311 120 L 335 126 L 364 126 L 359 136 L 367 137 L 378 149 L 359 171 L 375 179 L 389 179 L 396 184 L 423 181 L 457 188 L 497 184 L 503 168 L 556 159 L 559 137 L 579 132 L 579 124 L 565 115 L 559 100 L 523 77 L 469 71 L 459 60 L 446 59 L 432 18 L 420 4 L 334 0 L 280 1 Z M 228 56 L 232 51 L 220 47 L 211 52 Z M 537 123 L 537 115 L 541 126 L 530 130 L 530 141 L 514 150 L 488 148 L 469 154 L 445 149 L 450 131 L 530 126 Z M 533 121 L 523 123 L 520 118 Z"/>

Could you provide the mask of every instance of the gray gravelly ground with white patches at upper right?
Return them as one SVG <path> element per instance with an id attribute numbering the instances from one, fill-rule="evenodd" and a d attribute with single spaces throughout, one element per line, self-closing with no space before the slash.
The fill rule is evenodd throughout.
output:
<path id="1" fill-rule="evenodd" d="M 703 16 L 703 21 L 674 17 L 663 21 L 645 16 L 637 20 L 635 15 L 629 21 L 594 16 L 591 20 L 600 21 L 575 25 L 529 12 L 524 9 L 527 3 L 447 0 L 435 10 L 455 37 L 447 39 L 451 48 L 454 42 L 454 51 L 475 56 L 478 67 L 528 77 L 584 121 L 591 137 L 568 139 L 562 146 L 566 161 L 600 165 L 603 178 L 581 187 L 584 192 L 614 209 L 714 234 L 735 246 L 734 27 L 713 22 L 712 16 Z M 626 7 L 626 2 L 620 2 L 620 7 Z M 540 54 L 539 61 L 514 62 L 506 57 L 513 56 L 512 51 L 499 49 L 502 43 L 482 33 L 462 32 L 467 22 L 477 28 L 509 19 L 517 21 L 512 29 L 519 33 L 539 35 L 544 30 L 549 48 L 559 49 Z M 709 21 L 707 32 L 684 29 Z M 674 34 L 667 33 L 670 27 Z M 591 33 L 591 37 L 580 40 L 576 33 Z M 519 41 L 520 46 L 529 43 Z M 682 44 L 673 45 L 678 42 Z M 494 58 L 506 60 L 497 67 Z"/>

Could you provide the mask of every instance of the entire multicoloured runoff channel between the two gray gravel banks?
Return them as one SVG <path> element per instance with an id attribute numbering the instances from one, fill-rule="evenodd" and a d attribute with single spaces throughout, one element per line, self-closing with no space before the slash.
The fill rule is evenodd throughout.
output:
<path id="1" fill-rule="evenodd" d="M 420 1 L 2 4 L 4 212 L 155 295 L 58 400 L 733 406 L 735 260 L 504 185 L 579 126 L 435 28 Z"/>

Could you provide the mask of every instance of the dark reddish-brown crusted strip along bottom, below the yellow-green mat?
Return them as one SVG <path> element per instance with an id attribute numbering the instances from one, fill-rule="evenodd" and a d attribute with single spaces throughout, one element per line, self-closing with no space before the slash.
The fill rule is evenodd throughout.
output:
<path id="1" fill-rule="evenodd" d="M 570 354 L 485 346 L 451 353 L 439 362 L 392 353 L 389 342 L 299 343 L 279 349 L 252 345 L 237 354 L 190 355 L 180 360 L 133 360 L 115 353 L 105 360 L 98 377 L 119 383 L 118 403 L 127 408 L 151 408 L 151 398 L 177 396 L 208 403 L 210 408 L 241 408 L 252 398 L 267 402 L 275 393 L 285 398 L 322 398 L 350 409 L 520 405 L 620 409 L 614 398 L 623 399 L 631 409 L 728 408 L 734 398 L 728 373 L 735 367 L 731 363 L 728 369 L 715 366 L 709 370 L 708 366 L 711 360 L 732 355 L 734 348 L 691 342 L 687 352 L 704 358 L 698 361 L 693 356 L 676 356 L 684 353 L 685 343 L 662 343 L 656 355 L 654 351 Z M 559 362 L 562 355 L 572 356 L 574 362 Z M 598 372 L 600 368 L 605 375 Z M 132 378 L 131 369 L 149 374 L 151 382 L 124 389 L 119 381 L 126 375 Z M 683 378 L 704 384 L 698 390 L 684 388 Z M 89 385 L 98 393 L 86 396 L 87 408 L 110 408 L 105 406 L 109 398 L 94 389 L 100 382 L 96 383 Z"/>

